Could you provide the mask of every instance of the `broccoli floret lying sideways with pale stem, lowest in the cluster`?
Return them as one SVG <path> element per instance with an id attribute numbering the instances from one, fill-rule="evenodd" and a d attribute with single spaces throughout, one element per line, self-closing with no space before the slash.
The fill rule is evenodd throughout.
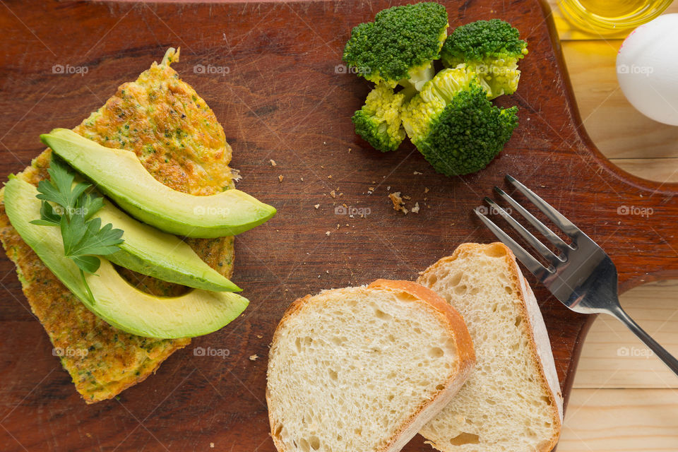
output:
<path id="1" fill-rule="evenodd" d="M 487 99 L 464 66 L 440 71 L 403 109 L 403 126 L 434 169 L 446 176 L 480 171 L 496 157 L 518 125 L 517 107 Z"/>

